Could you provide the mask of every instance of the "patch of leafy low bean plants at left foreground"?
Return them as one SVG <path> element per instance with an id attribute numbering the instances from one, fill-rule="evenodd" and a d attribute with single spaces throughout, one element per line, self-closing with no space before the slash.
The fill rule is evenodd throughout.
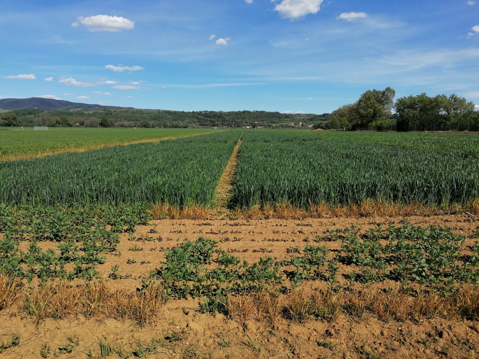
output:
<path id="1" fill-rule="evenodd" d="M 11 208 L 0 204 L 0 275 L 49 280 L 91 280 L 96 266 L 114 252 L 120 233 L 148 224 L 144 205 Z M 22 251 L 22 242 L 28 249 Z M 42 242 L 56 248 L 42 250 Z"/>

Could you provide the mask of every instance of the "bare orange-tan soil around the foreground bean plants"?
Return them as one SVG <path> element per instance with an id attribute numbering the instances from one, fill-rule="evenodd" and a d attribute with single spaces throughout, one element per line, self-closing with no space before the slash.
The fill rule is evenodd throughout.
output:
<path id="1" fill-rule="evenodd" d="M 155 241 L 131 241 L 123 234 L 117 250 L 119 255 L 108 254 L 105 264 L 98 267 L 103 276 L 108 276 L 115 264 L 118 273 L 130 275 L 122 280 L 111 280 L 118 287 L 140 286 L 137 278 L 148 275 L 158 268 L 164 259 L 164 251 L 183 241 L 206 236 L 218 241 L 218 247 L 249 262 L 266 256 L 278 260 L 289 259 L 290 247 L 303 248 L 306 244 L 326 245 L 330 253 L 339 249 L 340 243 L 314 243 L 317 235 L 352 224 L 363 230 L 377 224 L 399 225 L 401 217 L 328 218 L 304 220 L 157 220 L 148 226 L 139 226 L 135 237 L 153 237 Z M 479 222 L 466 214 L 440 216 L 412 216 L 411 224 L 449 226 L 457 234 L 470 235 L 479 228 Z M 153 233 L 155 232 L 155 233 Z M 477 239 L 476 239 L 477 240 Z M 471 245 L 468 239 L 466 245 Z M 25 244 L 26 245 L 26 244 Z M 40 243 L 41 247 L 49 246 Z M 55 247 L 54 244 L 52 244 Z M 131 250 L 131 248 L 142 250 Z M 25 248 L 23 248 L 25 250 Z M 127 262 L 133 264 L 127 264 Z M 351 268 L 340 265 L 340 281 L 347 280 L 341 274 Z M 305 284 L 309 288 L 325 288 L 324 281 Z M 137 346 L 140 340 L 147 344 L 151 339 L 162 339 L 160 353 L 148 354 L 147 358 L 477 358 L 479 351 L 479 323 L 468 320 L 445 320 L 435 318 L 419 325 L 412 322 L 388 323 L 372 314 L 362 320 L 340 314 L 332 323 L 310 320 L 304 324 L 292 323 L 278 317 L 273 326 L 259 320 L 238 322 L 228 320 L 223 314 L 200 314 L 200 300 L 170 300 L 161 309 L 156 321 L 141 329 L 131 322 L 112 319 L 86 320 L 83 317 L 71 320 L 47 320 L 36 326 L 29 318 L 12 313 L 11 309 L 0 312 L 0 342 L 8 342 L 12 333 L 20 333 L 20 345 L 6 349 L 4 358 L 40 358 L 42 345 L 48 343 L 50 356 L 61 345 L 67 345 L 67 337 L 76 335 L 80 345 L 69 354 L 59 358 L 86 358 L 87 351 L 100 355 L 99 342 L 107 340 L 115 346 L 124 346 L 127 351 Z M 1 344 L 1 343 L 0 343 Z M 58 350 L 57 350 L 58 351 Z M 113 354 L 111 358 L 116 358 Z"/>

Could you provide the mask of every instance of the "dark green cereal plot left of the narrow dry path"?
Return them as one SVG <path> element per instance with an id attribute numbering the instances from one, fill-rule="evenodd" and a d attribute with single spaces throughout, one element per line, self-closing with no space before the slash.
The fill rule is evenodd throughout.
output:
<path id="1" fill-rule="evenodd" d="M 0 163 L 0 203 L 207 206 L 240 134 L 223 132 Z"/>

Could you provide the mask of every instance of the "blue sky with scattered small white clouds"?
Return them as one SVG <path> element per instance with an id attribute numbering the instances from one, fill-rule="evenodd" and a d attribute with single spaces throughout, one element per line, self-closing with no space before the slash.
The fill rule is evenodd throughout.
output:
<path id="1" fill-rule="evenodd" d="M 331 112 L 369 89 L 479 103 L 479 0 L 2 0 L 0 96 Z"/>

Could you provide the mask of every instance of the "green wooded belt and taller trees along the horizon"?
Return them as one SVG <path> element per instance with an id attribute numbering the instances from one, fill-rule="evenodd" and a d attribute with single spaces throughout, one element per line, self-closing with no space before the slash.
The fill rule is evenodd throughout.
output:
<path id="1" fill-rule="evenodd" d="M 267 111 L 148 111 L 98 109 L 44 111 L 25 109 L 0 114 L 0 126 L 50 127 L 295 127 L 347 130 L 479 131 L 479 112 L 456 94 L 410 95 L 394 101 L 396 91 L 367 90 L 354 103 L 331 113 L 287 114 Z"/>

